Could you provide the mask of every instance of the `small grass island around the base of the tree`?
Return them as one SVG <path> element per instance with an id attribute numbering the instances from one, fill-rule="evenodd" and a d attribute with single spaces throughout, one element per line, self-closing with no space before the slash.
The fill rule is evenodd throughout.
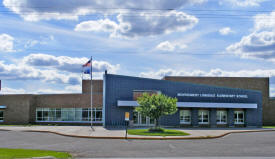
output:
<path id="1" fill-rule="evenodd" d="M 129 135 L 143 135 L 143 136 L 186 136 L 190 135 L 186 132 L 180 130 L 168 130 L 165 129 L 164 132 L 149 132 L 148 129 L 129 129 Z"/>

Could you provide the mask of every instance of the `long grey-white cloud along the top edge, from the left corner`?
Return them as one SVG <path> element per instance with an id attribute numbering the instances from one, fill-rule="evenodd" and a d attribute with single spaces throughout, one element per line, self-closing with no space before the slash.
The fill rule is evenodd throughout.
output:
<path id="1" fill-rule="evenodd" d="M 25 20 L 70 19 L 87 14 L 116 14 L 125 9 L 178 9 L 186 4 L 200 4 L 206 0 L 3 0 L 3 5 Z M 117 9 L 116 9 L 117 8 Z"/>

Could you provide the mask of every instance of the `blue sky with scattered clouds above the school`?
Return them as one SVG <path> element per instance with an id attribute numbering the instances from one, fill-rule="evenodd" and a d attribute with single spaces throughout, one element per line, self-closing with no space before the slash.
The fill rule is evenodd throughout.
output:
<path id="1" fill-rule="evenodd" d="M 272 0 L 1 0 L 1 94 L 81 93 L 108 73 L 270 77 Z"/>

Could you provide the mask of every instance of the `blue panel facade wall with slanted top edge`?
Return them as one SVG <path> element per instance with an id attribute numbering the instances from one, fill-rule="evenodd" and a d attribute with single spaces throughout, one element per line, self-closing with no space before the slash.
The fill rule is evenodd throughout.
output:
<path id="1" fill-rule="evenodd" d="M 198 85 L 184 82 L 154 80 L 147 78 L 129 77 L 121 75 L 104 75 L 104 109 L 105 125 L 123 125 L 124 113 L 132 112 L 131 107 L 118 107 L 118 100 L 133 100 L 133 90 L 160 90 L 170 97 L 177 97 L 179 102 L 215 102 L 215 103 L 257 103 L 258 109 L 246 111 L 246 124 L 248 126 L 262 125 L 262 99 L 261 92 Z M 220 94 L 247 94 L 248 98 L 210 98 L 210 97 L 178 97 L 177 93 L 220 93 Z M 231 110 L 231 109 L 229 109 Z M 234 120 L 234 112 L 228 112 L 230 124 Z M 232 114 L 233 113 L 233 114 Z M 192 125 L 197 125 L 197 109 L 192 109 Z M 213 117 L 213 114 L 211 115 Z M 214 120 L 214 117 L 213 119 Z M 161 119 L 162 125 L 179 125 L 179 112 Z"/>

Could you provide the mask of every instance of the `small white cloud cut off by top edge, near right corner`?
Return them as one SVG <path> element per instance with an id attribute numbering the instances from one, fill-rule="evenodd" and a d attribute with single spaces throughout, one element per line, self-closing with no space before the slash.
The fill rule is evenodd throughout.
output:
<path id="1" fill-rule="evenodd" d="M 222 4 L 230 3 L 231 5 L 238 6 L 238 7 L 258 7 L 262 2 L 265 2 L 265 1 L 267 0 L 224 0 L 224 2 L 221 2 L 221 3 Z"/>

